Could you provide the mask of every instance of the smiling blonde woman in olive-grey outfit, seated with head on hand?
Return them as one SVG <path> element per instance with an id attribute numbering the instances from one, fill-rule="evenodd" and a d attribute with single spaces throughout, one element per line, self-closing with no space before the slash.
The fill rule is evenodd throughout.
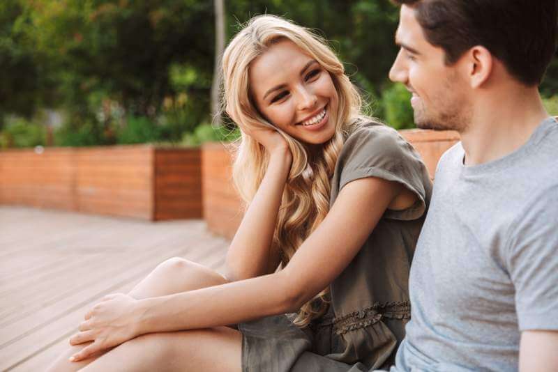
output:
<path id="1" fill-rule="evenodd" d="M 395 130 L 360 115 L 342 63 L 301 26 L 255 17 L 227 47 L 223 75 L 227 113 L 242 130 L 234 180 L 248 205 L 226 277 L 180 258 L 162 263 L 86 313 L 52 370 L 393 362 L 430 199 L 425 166 Z"/>

